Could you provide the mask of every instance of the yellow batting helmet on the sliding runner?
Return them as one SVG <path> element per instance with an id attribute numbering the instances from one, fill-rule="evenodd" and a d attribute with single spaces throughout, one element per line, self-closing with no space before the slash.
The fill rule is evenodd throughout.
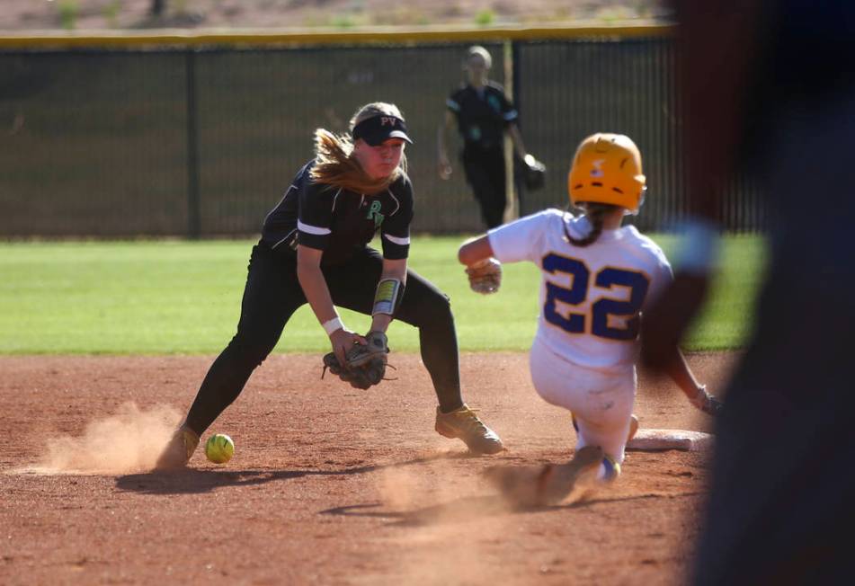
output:
<path id="1" fill-rule="evenodd" d="M 576 149 L 567 175 L 567 191 L 574 206 L 608 203 L 634 214 L 644 201 L 645 190 L 641 153 L 631 138 L 601 132 L 585 138 Z"/>

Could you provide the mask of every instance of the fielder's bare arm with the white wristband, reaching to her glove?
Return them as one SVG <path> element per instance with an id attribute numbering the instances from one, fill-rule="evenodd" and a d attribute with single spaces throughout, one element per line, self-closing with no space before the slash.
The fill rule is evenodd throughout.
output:
<path id="1" fill-rule="evenodd" d="M 335 357 L 344 364 L 344 357 L 351 350 L 353 344 L 363 343 L 364 339 L 345 328 L 335 311 L 333 297 L 330 296 L 324 273 L 321 272 L 321 256 L 323 254 L 324 251 L 322 250 L 298 245 L 297 278 L 303 293 L 306 294 L 308 305 L 315 312 L 317 321 L 327 330 L 326 333 L 330 337 Z"/>

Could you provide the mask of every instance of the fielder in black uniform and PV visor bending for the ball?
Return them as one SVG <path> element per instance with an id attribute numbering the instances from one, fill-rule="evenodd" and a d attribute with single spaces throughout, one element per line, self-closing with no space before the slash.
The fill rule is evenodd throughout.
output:
<path id="1" fill-rule="evenodd" d="M 157 468 L 184 466 L 208 429 L 243 390 L 279 341 L 289 317 L 308 303 L 336 357 L 364 339 L 348 330 L 334 306 L 372 315 L 370 331 L 385 333 L 392 315 L 419 328 L 422 359 L 439 399 L 436 431 L 477 453 L 503 449 L 460 396 L 457 335 L 449 299 L 408 271 L 413 186 L 405 173 L 405 121 L 393 104 L 363 106 L 351 138 L 316 131 L 316 158 L 303 166 L 264 220 L 253 248 L 237 333 L 210 367 L 190 412 Z M 379 231 L 383 253 L 368 244 Z M 378 311 L 379 283 L 396 298 Z M 383 289 L 384 291 L 390 288 Z"/>

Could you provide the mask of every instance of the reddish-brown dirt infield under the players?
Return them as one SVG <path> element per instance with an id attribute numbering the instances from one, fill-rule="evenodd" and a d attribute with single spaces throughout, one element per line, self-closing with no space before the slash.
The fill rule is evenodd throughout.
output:
<path id="1" fill-rule="evenodd" d="M 465 354 L 468 403 L 508 452 L 471 457 L 433 429 L 415 355 L 357 392 L 317 356 L 277 355 L 210 432 L 236 456 L 140 471 L 210 357 L 0 358 L 0 583 L 678 584 L 708 455 L 632 452 L 608 490 L 509 511 L 481 473 L 566 459 L 568 415 L 539 399 L 524 354 Z M 732 355 L 690 364 L 717 390 Z M 642 427 L 706 431 L 642 375 Z M 206 434 L 205 437 L 207 437 Z"/>

